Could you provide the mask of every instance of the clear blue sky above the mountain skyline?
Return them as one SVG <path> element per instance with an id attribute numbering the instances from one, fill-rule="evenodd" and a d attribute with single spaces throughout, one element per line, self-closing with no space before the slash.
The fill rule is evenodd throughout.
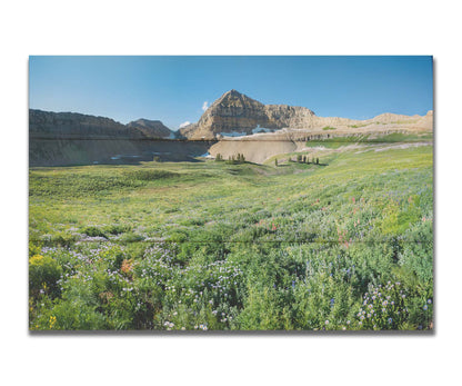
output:
<path id="1" fill-rule="evenodd" d="M 432 57 L 30 57 L 29 107 L 195 122 L 235 89 L 320 117 L 368 119 L 433 109 Z"/>

